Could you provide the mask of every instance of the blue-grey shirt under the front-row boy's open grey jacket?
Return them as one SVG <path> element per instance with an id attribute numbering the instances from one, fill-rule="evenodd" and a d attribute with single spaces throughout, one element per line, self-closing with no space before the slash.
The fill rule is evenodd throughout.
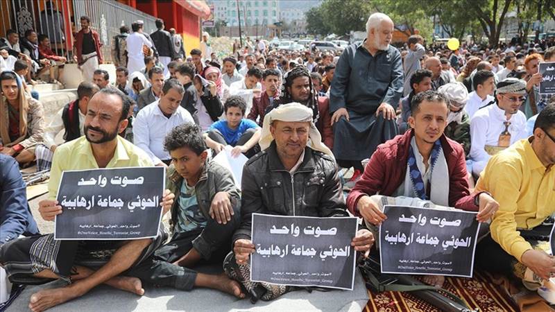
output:
<path id="1" fill-rule="evenodd" d="M 207 220 L 198 207 L 195 187 L 189 187 L 183 179 L 179 194 L 178 229 L 180 233 L 206 227 Z"/>

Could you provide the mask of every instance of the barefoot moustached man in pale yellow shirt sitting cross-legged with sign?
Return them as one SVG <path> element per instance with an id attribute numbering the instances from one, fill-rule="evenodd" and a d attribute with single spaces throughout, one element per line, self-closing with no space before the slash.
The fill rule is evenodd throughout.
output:
<path id="1" fill-rule="evenodd" d="M 54 153 L 49 199 L 39 203 L 44 220 L 53 221 L 62 214 L 56 194 L 63 171 L 153 166 L 144 151 L 118 135 L 127 127 L 129 110 L 129 98 L 114 88 L 102 89 L 91 98 L 85 136 L 63 144 Z M 161 204 L 164 213 L 172 203 L 173 194 L 166 190 Z M 130 241 L 56 241 L 53 234 L 33 236 L 2 245 L 0 264 L 14 283 L 43 284 L 54 279 L 70 283 L 31 295 L 29 309 L 44 311 L 85 295 L 103 283 L 143 295 L 138 278 L 119 275 L 153 254 L 166 238 L 163 228 L 155 239 Z"/>

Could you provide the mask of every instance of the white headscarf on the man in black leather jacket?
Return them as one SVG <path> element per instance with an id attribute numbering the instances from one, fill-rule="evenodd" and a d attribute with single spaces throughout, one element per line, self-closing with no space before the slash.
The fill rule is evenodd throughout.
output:
<path id="1" fill-rule="evenodd" d="M 334 157 L 330 148 L 327 148 L 322 143 L 322 137 L 316 125 L 314 125 L 313 115 L 314 112 L 309 107 L 302 105 L 300 103 L 289 103 L 280 105 L 264 116 L 264 126 L 262 127 L 262 134 L 260 135 L 260 140 L 258 144 L 262 150 L 270 147 L 273 141 L 272 134 L 270 132 L 270 125 L 273 121 L 287 121 L 287 122 L 309 122 L 310 129 L 308 132 L 307 146 L 313 150 L 318 150 L 324 154 Z"/>

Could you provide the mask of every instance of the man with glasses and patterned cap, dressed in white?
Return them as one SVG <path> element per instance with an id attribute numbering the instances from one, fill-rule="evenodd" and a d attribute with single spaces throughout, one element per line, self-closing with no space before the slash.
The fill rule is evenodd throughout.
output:
<path id="1" fill-rule="evenodd" d="M 470 159 L 472 173 L 479 175 L 490 157 L 527 137 L 524 102 L 526 83 L 506 78 L 497 83 L 495 101 L 478 110 L 470 119 Z"/>

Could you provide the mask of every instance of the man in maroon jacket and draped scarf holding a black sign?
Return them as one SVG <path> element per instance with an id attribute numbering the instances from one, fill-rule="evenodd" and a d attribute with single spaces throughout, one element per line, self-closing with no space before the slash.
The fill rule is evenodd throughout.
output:
<path id="1" fill-rule="evenodd" d="M 375 229 L 387 218 L 375 197 L 379 194 L 480 211 L 477 220 L 481 222 L 493 215 L 497 202 L 486 192 L 470 194 L 463 148 L 443 134 L 448 113 L 443 94 L 426 91 L 413 97 L 412 129 L 378 146 L 347 198 L 352 214 L 362 216 Z M 429 277 L 426 282 L 441 286 L 443 277 Z"/>

